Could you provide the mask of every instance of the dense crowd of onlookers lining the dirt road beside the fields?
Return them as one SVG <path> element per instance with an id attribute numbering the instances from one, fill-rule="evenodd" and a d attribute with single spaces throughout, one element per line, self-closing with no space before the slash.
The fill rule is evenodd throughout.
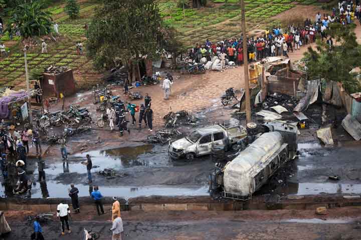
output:
<path id="1" fill-rule="evenodd" d="M 224 68 L 226 59 L 236 64 L 243 64 L 243 53 L 247 51 L 248 61 L 257 61 L 269 56 L 288 57 L 289 52 L 300 49 L 300 46 L 314 42 L 316 39 L 327 40 L 332 45 L 332 39 L 327 38 L 327 29 L 332 22 L 342 25 L 351 24 L 354 18 L 361 18 L 361 5 L 352 0 L 339 1 L 339 10 L 332 10 L 331 14 L 318 12 L 315 18 L 306 18 L 302 25 L 281 26 L 265 30 L 263 35 L 252 36 L 247 39 L 247 49 L 243 49 L 243 36 L 212 42 L 209 39 L 204 44 L 197 44 L 189 50 L 188 56 L 196 62 L 206 57 L 211 61 L 218 56 Z"/>

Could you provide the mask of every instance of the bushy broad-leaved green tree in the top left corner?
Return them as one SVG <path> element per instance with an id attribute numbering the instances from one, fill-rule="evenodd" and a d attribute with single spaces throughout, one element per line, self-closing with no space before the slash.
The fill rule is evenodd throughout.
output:
<path id="1" fill-rule="evenodd" d="M 6 31 L 19 30 L 23 38 L 49 34 L 53 19 L 39 2 L 24 3 L 11 10 Z M 16 29 L 15 29 L 16 27 Z"/>

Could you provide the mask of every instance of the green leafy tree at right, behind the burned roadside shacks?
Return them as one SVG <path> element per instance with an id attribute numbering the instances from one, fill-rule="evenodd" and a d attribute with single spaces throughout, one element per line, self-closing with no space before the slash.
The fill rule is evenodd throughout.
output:
<path id="1" fill-rule="evenodd" d="M 354 25 L 332 23 L 327 31 L 333 39 L 332 48 L 321 40 L 317 40 L 316 50 L 308 47 L 304 60 L 309 78 L 342 82 L 349 93 L 360 89 L 359 82 L 349 73 L 361 61 L 361 46 L 353 30 Z"/>

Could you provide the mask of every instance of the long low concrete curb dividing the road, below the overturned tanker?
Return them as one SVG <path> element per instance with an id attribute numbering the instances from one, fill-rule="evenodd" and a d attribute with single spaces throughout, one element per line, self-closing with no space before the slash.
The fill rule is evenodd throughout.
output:
<path id="1" fill-rule="evenodd" d="M 359 195 L 307 195 L 285 196 L 277 201 L 265 201 L 264 196 L 257 196 L 248 201 L 234 201 L 228 199 L 213 200 L 211 197 L 164 197 L 150 196 L 118 199 L 122 211 L 230 211 L 230 210 L 276 210 L 276 209 L 315 209 L 317 207 L 335 208 L 345 206 L 361 206 Z M 93 209 L 94 202 L 90 197 L 80 197 L 82 209 Z M 35 212 L 56 211 L 60 203 L 71 204 L 69 198 L 49 199 L 1 199 L 1 210 L 32 210 Z M 104 208 L 111 208 L 111 197 L 103 199 Z"/>

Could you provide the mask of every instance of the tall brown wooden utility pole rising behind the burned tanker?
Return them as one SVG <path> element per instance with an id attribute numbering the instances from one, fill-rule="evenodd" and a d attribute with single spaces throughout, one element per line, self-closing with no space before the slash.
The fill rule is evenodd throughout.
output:
<path id="1" fill-rule="evenodd" d="M 245 14 L 245 2 L 241 0 L 241 20 L 242 20 L 242 34 L 243 34 L 243 62 L 244 62 L 244 74 L 245 74 L 245 91 L 246 91 L 246 121 L 251 122 L 251 98 L 249 90 L 249 76 L 248 76 L 248 56 L 247 56 L 247 34 L 246 34 L 246 14 Z"/>

